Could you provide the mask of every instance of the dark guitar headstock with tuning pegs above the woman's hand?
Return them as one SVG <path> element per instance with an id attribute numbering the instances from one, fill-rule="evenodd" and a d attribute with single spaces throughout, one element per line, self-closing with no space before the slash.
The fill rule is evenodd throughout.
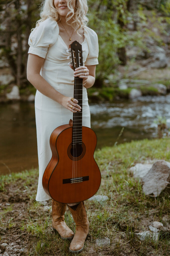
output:
<path id="1" fill-rule="evenodd" d="M 83 66 L 82 45 L 77 41 L 72 42 L 69 52 L 73 70 Z"/>

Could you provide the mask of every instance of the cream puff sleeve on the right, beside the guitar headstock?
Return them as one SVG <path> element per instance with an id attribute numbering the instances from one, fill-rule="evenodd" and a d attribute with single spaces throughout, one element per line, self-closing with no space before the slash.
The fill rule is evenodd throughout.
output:
<path id="1" fill-rule="evenodd" d="M 94 30 L 91 28 L 85 27 L 84 28 L 84 36 L 87 39 L 88 47 L 89 47 L 89 54 L 85 61 L 85 65 L 97 65 L 98 62 L 98 55 L 99 55 L 99 44 L 98 44 L 98 37 Z"/>

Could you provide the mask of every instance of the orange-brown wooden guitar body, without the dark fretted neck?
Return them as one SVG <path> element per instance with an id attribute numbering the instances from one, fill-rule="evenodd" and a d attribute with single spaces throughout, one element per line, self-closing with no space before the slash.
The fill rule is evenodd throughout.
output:
<path id="1" fill-rule="evenodd" d="M 95 132 L 82 126 L 82 149 L 73 157 L 72 126 L 57 127 L 50 137 L 52 158 L 43 175 L 43 187 L 55 201 L 75 203 L 93 196 L 100 187 L 101 174 L 94 159 Z"/>

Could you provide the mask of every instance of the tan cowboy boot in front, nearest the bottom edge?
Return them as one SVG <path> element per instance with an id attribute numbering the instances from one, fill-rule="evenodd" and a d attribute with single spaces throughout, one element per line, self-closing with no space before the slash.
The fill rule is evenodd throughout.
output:
<path id="1" fill-rule="evenodd" d="M 69 205 L 68 207 L 76 224 L 76 232 L 73 240 L 71 241 L 69 251 L 80 252 L 83 250 L 84 242 L 89 233 L 89 222 L 87 219 L 86 209 L 83 201 L 80 202 L 76 210 L 72 209 Z"/>

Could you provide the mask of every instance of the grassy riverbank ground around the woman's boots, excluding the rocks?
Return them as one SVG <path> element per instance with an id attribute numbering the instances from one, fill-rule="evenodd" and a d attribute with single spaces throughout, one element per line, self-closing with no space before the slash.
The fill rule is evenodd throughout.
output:
<path id="1" fill-rule="evenodd" d="M 170 161 L 170 138 L 132 141 L 95 152 L 102 175 L 97 195 L 109 199 L 101 204 L 86 201 L 90 232 L 85 249 L 79 255 L 154 255 L 168 256 L 168 232 L 160 233 L 159 240 L 141 241 L 135 233 L 148 229 L 149 223 L 160 221 L 169 227 L 169 195 L 158 198 L 145 196 L 140 182 L 128 173 L 129 167 L 153 159 Z M 0 176 L 0 255 L 72 255 L 69 242 L 63 241 L 51 228 L 51 200 L 36 202 L 38 170 Z M 75 226 L 66 211 L 66 221 Z M 95 240 L 109 238 L 110 245 L 99 248 Z M 7 243 L 8 246 L 2 246 Z"/>

